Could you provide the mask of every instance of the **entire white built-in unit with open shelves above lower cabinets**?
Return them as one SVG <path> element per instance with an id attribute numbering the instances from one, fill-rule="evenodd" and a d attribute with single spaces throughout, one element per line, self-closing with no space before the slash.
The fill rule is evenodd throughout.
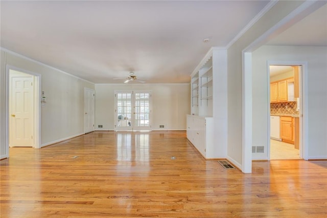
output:
<path id="1" fill-rule="evenodd" d="M 191 74 L 191 115 L 186 126 L 187 138 L 204 158 L 226 158 L 226 49 L 209 50 Z"/>

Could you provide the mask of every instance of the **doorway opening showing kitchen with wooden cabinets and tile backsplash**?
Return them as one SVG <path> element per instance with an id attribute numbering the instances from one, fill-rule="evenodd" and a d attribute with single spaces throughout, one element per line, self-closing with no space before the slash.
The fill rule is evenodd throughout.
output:
<path id="1" fill-rule="evenodd" d="M 270 65 L 270 160 L 302 159 L 302 66 Z"/>

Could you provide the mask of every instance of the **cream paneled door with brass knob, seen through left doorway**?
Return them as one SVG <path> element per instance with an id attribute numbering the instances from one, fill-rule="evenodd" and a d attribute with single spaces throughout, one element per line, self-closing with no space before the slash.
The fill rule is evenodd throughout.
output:
<path id="1" fill-rule="evenodd" d="M 10 146 L 34 146 L 34 77 L 10 76 Z"/>

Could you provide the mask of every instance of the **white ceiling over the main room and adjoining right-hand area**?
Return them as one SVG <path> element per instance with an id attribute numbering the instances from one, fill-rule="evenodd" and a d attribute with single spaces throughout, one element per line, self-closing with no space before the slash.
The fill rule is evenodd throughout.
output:
<path id="1" fill-rule="evenodd" d="M 209 48 L 227 46 L 268 3 L 1 1 L 1 47 L 94 83 L 120 83 L 113 78 L 130 71 L 148 83 L 185 83 Z M 270 45 L 326 46 L 326 8 L 319 10 L 305 25 L 320 25 L 320 42 L 312 31 L 290 38 L 287 30 Z"/>

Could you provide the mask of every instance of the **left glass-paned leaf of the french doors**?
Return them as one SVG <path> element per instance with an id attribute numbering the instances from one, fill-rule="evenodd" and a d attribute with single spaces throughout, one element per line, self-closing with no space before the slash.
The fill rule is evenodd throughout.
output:
<path id="1" fill-rule="evenodd" d="M 115 92 L 115 130 L 132 130 L 132 92 Z"/>

